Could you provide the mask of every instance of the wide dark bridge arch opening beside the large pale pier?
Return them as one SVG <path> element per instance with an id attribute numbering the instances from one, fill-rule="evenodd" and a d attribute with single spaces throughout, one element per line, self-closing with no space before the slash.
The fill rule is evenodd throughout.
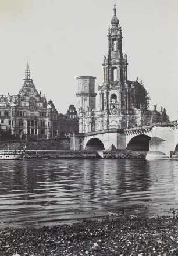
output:
<path id="1" fill-rule="evenodd" d="M 151 137 L 145 134 L 139 134 L 131 138 L 127 144 L 127 150 L 149 151 L 149 141 Z"/>

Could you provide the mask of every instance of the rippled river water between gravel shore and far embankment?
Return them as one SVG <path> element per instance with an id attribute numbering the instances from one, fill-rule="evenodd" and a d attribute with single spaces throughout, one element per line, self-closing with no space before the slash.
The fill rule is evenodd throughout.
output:
<path id="1" fill-rule="evenodd" d="M 178 214 L 176 160 L 23 159 L 1 161 L 0 175 L 0 228 Z"/>

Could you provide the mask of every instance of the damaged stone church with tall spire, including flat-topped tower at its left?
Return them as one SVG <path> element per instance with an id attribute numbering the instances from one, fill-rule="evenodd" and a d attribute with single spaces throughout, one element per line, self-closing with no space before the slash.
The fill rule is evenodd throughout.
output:
<path id="1" fill-rule="evenodd" d="M 127 55 L 122 53 L 122 28 L 116 17 L 116 6 L 108 29 L 108 55 L 102 63 L 104 81 L 98 86 L 99 107 L 95 108 L 95 79 L 77 77 L 77 112 L 79 132 L 126 129 L 169 121 L 165 108 L 149 109 L 149 96 L 142 81 L 127 79 Z"/>

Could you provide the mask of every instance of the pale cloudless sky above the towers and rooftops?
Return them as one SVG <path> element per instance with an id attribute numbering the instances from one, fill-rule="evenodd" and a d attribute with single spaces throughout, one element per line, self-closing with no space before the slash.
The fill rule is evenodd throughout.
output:
<path id="1" fill-rule="evenodd" d="M 97 76 L 97 92 L 114 3 L 128 79 L 143 80 L 151 104 L 176 120 L 177 0 L 0 0 L 0 94 L 19 93 L 27 56 L 35 87 L 59 113 L 76 105 L 77 76 Z"/>

